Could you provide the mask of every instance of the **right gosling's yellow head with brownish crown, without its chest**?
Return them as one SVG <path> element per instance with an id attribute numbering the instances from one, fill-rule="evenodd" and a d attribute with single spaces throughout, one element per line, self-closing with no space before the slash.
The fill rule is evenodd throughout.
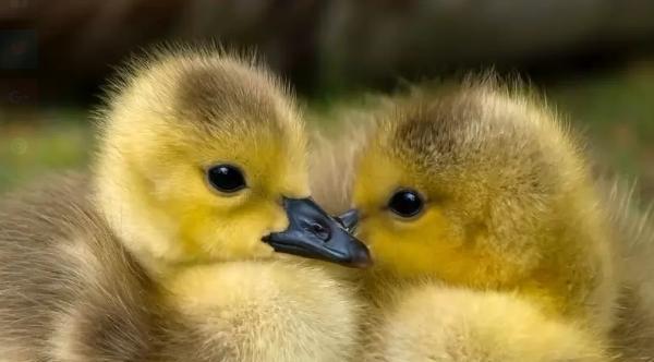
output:
<path id="1" fill-rule="evenodd" d="M 609 274 L 604 230 L 545 107 L 475 84 L 400 98 L 378 121 L 353 186 L 376 270 L 591 303 Z"/>

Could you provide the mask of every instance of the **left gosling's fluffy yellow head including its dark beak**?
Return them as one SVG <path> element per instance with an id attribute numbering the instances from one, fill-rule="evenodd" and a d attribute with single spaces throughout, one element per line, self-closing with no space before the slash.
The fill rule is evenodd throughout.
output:
<path id="1" fill-rule="evenodd" d="M 253 60 L 184 50 L 135 62 L 101 120 L 99 207 L 153 272 L 275 251 L 368 261 L 308 198 L 293 98 Z"/>

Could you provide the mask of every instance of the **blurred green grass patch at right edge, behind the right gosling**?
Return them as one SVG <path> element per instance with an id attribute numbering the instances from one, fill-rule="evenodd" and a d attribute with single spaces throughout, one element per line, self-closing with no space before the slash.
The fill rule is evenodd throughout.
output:
<path id="1" fill-rule="evenodd" d="M 597 161 L 654 196 L 654 62 L 561 82 L 546 94 L 581 129 Z"/>

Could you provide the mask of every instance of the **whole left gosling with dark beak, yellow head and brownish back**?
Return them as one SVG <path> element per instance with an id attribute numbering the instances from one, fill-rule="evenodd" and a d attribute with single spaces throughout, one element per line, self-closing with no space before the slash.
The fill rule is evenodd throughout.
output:
<path id="1" fill-rule="evenodd" d="M 276 253 L 368 261 L 307 198 L 288 87 L 252 60 L 184 49 L 133 63 L 100 118 L 88 182 L 0 207 L 0 361 L 351 353 L 351 290 Z"/>

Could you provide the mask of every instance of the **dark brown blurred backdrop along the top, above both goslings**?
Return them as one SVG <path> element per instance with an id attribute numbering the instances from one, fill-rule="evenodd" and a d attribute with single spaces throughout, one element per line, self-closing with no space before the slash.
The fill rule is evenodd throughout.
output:
<path id="1" fill-rule="evenodd" d="M 0 102 L 3 87 L 90 101 L 112 65 L 162 41 L 254 47 L 311 95 L 460 67 L 616 62 L 654 50 L 653 16 L 647 0 L 0 0 Z"/>

